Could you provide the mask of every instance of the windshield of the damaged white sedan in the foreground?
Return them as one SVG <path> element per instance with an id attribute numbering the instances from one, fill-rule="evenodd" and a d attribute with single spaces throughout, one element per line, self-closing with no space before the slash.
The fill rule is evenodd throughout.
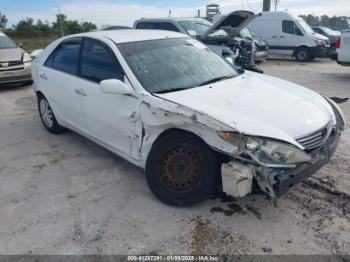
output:
<path id="1" fill-rule="evenodd" d="M 122 43 L 118 48 L 150 93 L 185 90 L 238 75 L 233 65 L 192 38 Z"/>

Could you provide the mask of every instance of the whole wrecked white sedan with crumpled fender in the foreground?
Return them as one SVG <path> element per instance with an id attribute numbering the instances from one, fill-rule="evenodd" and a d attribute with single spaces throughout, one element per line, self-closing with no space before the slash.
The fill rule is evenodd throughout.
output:
<path id="1" fill-rule="evenodd" d="M 193 205 L 219 185 L 272 198 L 327 164 L 345 118 L 304 87 L 239 70 L 186 35 L 68 36 L 34 60 L 44 126 L 74 130 L 144 168 L 152 192 Z"/>

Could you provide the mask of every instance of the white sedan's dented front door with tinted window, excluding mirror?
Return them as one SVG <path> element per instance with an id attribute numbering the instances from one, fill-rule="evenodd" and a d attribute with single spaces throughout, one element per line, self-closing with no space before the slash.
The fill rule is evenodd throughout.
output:
<path id="1" fill-rule="evenodd" d="M 84 38 L 79 76 L 84 132 L 123 155 L 138 159 L 142 125 L 136 95 L 105 94 L 99 83 L 118 79 L 132 89 L 111 48 L 95 39 Z"/>

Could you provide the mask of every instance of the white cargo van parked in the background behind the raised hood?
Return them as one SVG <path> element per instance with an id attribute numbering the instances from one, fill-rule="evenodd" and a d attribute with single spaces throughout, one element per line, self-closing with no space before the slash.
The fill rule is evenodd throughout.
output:
<path id="1" fill-rule="evenodd" d="M 263 12 L 248 27 L 268 42 L 270 55 L 310 61 L 315 57 L 325 57 L 330 48 L 327 37 L 315 33 L 302 18 L 287 12 Z"/>

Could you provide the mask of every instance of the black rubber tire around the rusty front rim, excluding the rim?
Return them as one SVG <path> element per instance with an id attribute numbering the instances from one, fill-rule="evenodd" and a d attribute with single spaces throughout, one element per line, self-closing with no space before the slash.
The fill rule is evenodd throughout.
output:
<path id="1" fill-rule="evenodd" d="M 162 182 L 163 158 L 175 147 L 188 146 L 200 159 L 200 175 L 195 186 L 186 192 L 175 192 Z M 220 168 L 215 153 L 199 138 L 187 133 L 172 133 L 161 137 L 152 147 L 146 163 L 146 179 L 153 194 L 172 206 L 192 206 L 207 200 L 215 189 Z M 193 174 L 191 173 L 190 176 Z"/>

